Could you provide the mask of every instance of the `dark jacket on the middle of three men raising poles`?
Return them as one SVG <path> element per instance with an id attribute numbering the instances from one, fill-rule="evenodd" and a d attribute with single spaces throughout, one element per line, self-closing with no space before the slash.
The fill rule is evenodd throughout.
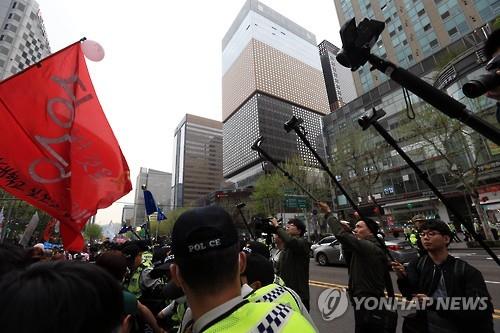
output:
<path id="1" fill-rule="evenodd" d="M 348 263 L 351 297 L 382 297 L 388 260 L 378 241 L 375 237 L 357 239 L 351 232 L 346 231 L 333 215 L 330 215 L 326 222 L 343 248 L 352 252 Z"/>

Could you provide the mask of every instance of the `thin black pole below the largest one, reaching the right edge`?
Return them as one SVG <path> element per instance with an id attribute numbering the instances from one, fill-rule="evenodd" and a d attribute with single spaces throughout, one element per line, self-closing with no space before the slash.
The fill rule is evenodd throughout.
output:
<path id="1" fill-rule="evenodd" d="M 367 115 L 362 116 L 361 118 L 358 119 L 359 126 L 365 131 L 372 125 L 375 130 L 389 143 L 397 152 L 398 154 L 408 163 L 408 165 L 415 171 L 417 176 L 425 183 L 429 188 L 431 189 L 432 192 L 441 200 L 441 202 L 445 205 L 445 207 L 455 216 L 455 218 L 463 224 L 466 228 L 467 231 L 474 237 L 474 239 L 488 252 L 488 254 L 495 260 L 495 262 L 500 266 L 500 260 L 498 259 L 497 255 L 489 248 L 486 243 L 479 237 L 479 235 L 476 233 L 474 230 L 472 224 L 470 222 L 466 222 L 465 219 L 462 217 L 462 215 L 451 205 L 449 204 L 448 200 L 444 197 L 444 195 L 434 186 L 434 184 L 431 183 L 429 178 L 425 173 L 420 170 L 420 168 L 411 160 L 411 158 L 401 149 L 401 147 L 398 146 L 396 143 L 396 140 L 386 131 L 386 129 L 380 125 L 378 120 L 385 116 L 386 113 L 384 110 L 375 110 L 373 108 L 373 114 L 369 117 Z"/>

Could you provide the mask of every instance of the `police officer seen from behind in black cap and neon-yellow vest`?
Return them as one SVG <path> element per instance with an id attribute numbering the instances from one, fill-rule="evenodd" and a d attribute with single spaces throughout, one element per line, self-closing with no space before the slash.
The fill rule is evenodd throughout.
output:
<path id="1" fill-rule="evenodd" d="M 220 207 L 183 213 L 172 231 L 174 281 L 186 294 L 192 319 L 180 332 L 314 332 L 290 307 L 241 297 L 246 265 L 230 215 Z"/>

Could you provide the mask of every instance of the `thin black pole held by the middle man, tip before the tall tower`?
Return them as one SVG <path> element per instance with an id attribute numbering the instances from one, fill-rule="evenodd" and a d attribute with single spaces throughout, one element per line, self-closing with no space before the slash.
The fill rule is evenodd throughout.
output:
<path id="1" fill-rule="evenodd" d="M 373 223 L 370 223 L 369 220 L 367 220 L 363 216 L 363 214 L 359 210 L 359 207 L 354 203 L 354 201 L 351 199 L 351 197 L 349 196 L 349 194 L 347 194 L 346 190 L 338 182 L 337 178 L 330 171 L 330 168 L 328 167 L 328 165 L 325 163 L 325 161 L 323 161 L 323 159 L 321 158 L 321 156 L 319 156 L 319 154 L 316 152 L 316 150 L 314 150 L 314 148 L 311 146 L 311 143 L 309 142 L 309 140 L 306 137 L 304 126 L 301 125 L 303 122 L 304 122 L 304 120 L 302 118 L 297 118 L 295 116 L 292 116 L 292 118 L 289 121 L 287 121 L 285 123 L 285 125 L 284 125 L 285 131 L 287 131 L 287 133 L 289 133 L 291 130 L 294 130 L 295 133 L 297 133 L 297 135 L 299 136 L 299 138 L 306 145 L 306 147 L 309 148 L 309 150 L 314 155 L 314 157 L 319 162 L 319 164 L 321 164 L 321 166 L 323 167 L 323 170 L 326 171 L 326 173 L 330 176 L 330 178 L 333 180 L 333 182 L 335 183 L 335 185 L 339 188 L 340 192 L 342 192 L 342 194 L 346 197 L 346 199 L 349 202 L 349 204 L 351 205 L 351 207 L 358 213 L 359 217 L 365 222 L 366 226 L 373 233 L 373 235 L 375 236 L 375 239 L 377 239 L 377 241 L 382 246 L 382 248 L 385 250 L 385 252 L 389 256 L 389 258 L 391 259 L 391 261 L 395 261 L 394 258 L 391 255 L 391 253 L 389 252 L 389 250 L 385 246 L 385 243 L 380 238 L 378 238 L 377 232 L 376 232 L 377 231 L 377 226 L 373 225 Z"/>

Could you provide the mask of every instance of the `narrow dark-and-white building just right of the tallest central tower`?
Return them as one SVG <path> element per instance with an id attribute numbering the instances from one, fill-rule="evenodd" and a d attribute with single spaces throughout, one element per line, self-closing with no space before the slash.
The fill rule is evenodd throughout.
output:
<path id="1" fill-rule="evenodd" d="M 324 40 L 318 45 L 318 48 L 325 77 L 328 104 L 330 111 L 335 111 L 357 97 L 352 72 L 337 61 L 336 57 L 340 52 L 338 47 Z"/>

